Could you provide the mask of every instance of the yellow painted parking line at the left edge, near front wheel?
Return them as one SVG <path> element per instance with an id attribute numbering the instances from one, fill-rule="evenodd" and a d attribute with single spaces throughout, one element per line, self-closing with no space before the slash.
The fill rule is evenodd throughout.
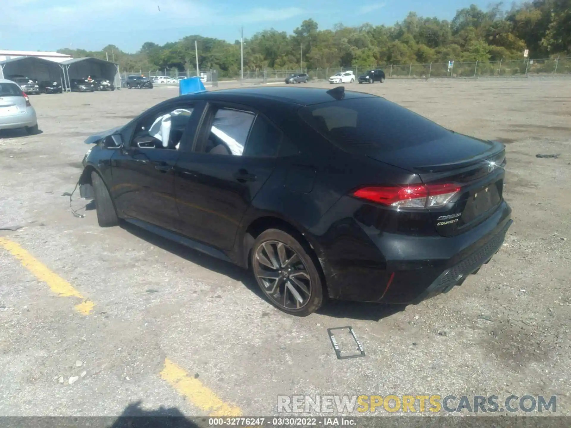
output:
<path id="1" fill-rule="evenodd" d="M 45 282 L 51 289 L 52 292 L 60 297 L 77 297 L 82 300 L 78 305 L 75 305 L 75 309 L 83 314 L 89 315 L 95 306 L 93 302 L 87 300 L 82 296 L 78 290 L 73 288 L 73 286 L 59 276 L 57 273 L 52 272 L 43 263 L 36 260 L 25 249 L 20 247 L 14 241 L 0 237 L 0 245 L 6 249 L 11 255 L 22 263 L 23 267 L 28 269 L 34 276 L 42 282 Z"/>

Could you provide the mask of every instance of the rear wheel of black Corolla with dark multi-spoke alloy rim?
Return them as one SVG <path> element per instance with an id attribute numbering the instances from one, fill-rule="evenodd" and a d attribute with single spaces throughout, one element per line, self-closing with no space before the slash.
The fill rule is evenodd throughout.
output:
<path id="1" fill-rule="evenodd" d="M 280 229 L 260 233 L 252 247 L 254 277 L 276 308 L 308 316 L 323 304 L 319 262 L 311 248 Z"/>

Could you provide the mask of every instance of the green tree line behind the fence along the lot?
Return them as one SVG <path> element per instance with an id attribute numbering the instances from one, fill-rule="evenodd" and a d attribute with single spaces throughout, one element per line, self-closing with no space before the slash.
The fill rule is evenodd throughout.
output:
<path id="1" fill-rule="evenodd" d="M 215 68 L 221 77 L 240 72 L 240 41 L 189 35 L 160 46 L 143 43 L 134 53 L 114 45 L 101 51 L 61 49 L 58 52 L 115 60 L 126 71 L 195 70 L 198 43 L 200 70 Z M 393 26 L 338 24 L 320 30 L 306 19 L 292 34 L 264 30 L 244 40 L 244 70 L 371 67 L 383 64 L 430 62 L 488 62 L 571 55 L 571 0 L 502 3 L 481 10 L 475 5 L 458 10 L 452 21 L 420 17 L 411 12 Z"/>

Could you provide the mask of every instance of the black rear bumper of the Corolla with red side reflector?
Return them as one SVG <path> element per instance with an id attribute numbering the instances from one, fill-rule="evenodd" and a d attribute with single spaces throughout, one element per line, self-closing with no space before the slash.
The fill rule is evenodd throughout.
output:
<path id="1" fill-rule="evenodd" d="M 313 236 L 329 297 L 341 300 L 416 304 L 448 292 L 500 249 L 512 209 L 502 201 L 488 219 L 457 236 L 413 236 L 381 232 L 356 220 L 337 239 Z"/>

